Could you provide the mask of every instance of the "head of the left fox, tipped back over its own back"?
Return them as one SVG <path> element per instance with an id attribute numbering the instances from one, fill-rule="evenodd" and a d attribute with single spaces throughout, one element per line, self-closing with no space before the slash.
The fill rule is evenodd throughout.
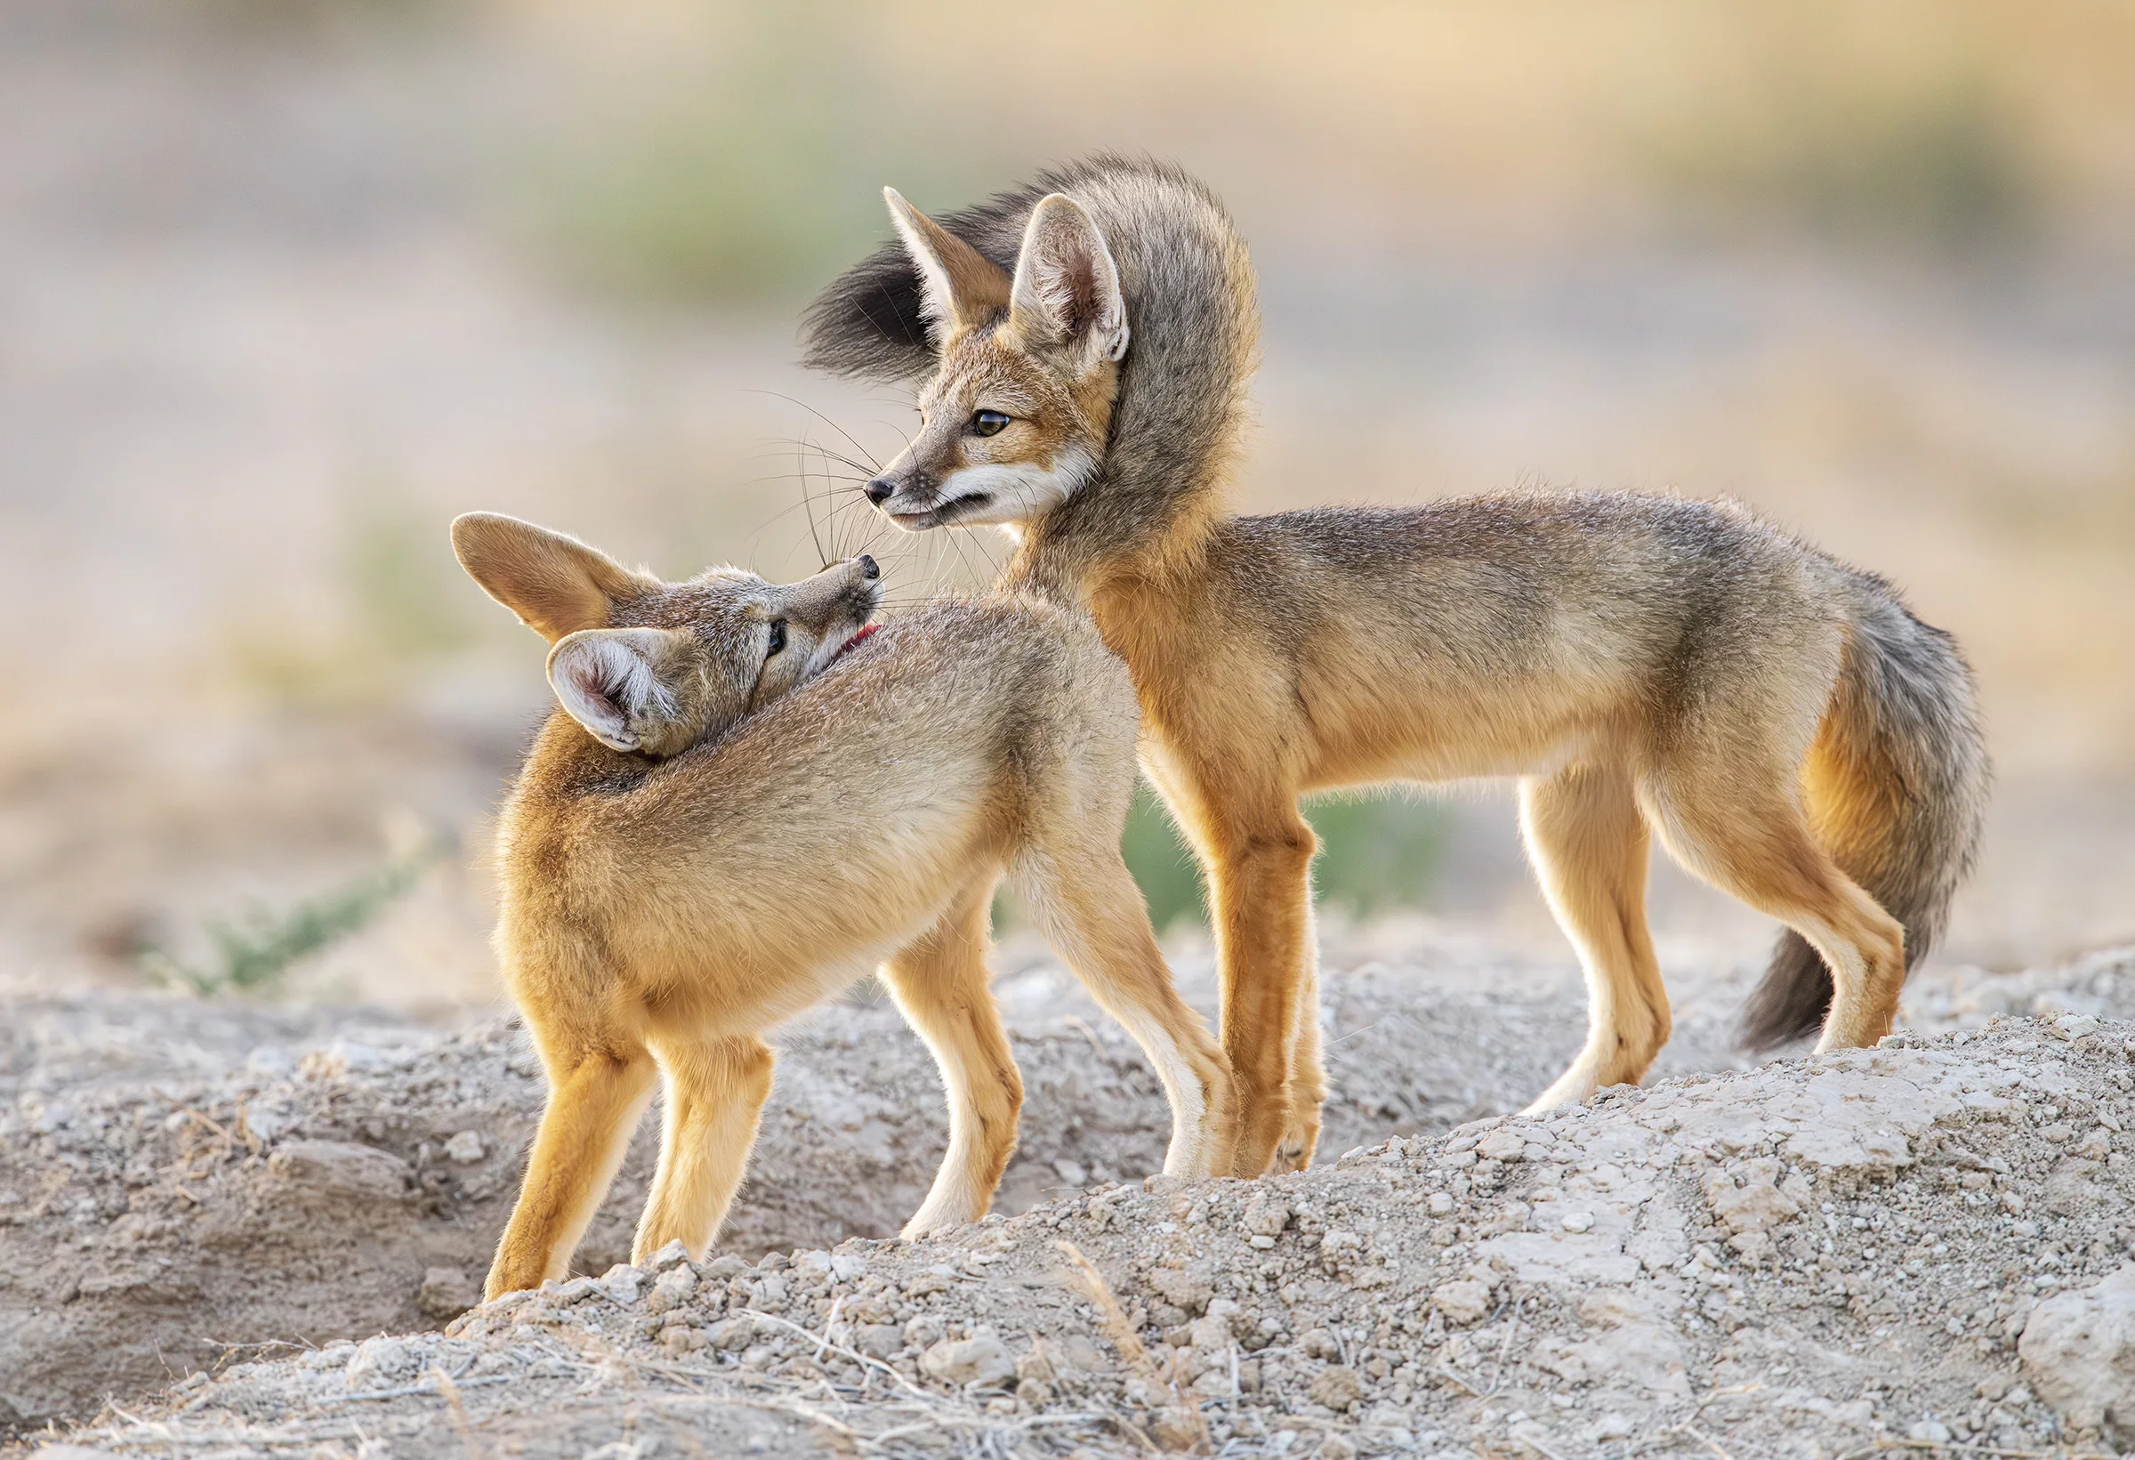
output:
<path id="1" fill-rule="evenodd" d="M 453 523 L 459 566 L 547 638 L 557 702 L 602 745 L 651 758 L 717 736 L 873 630 L 875 559 L 801 583 L 709 568 L 662 583 L 559 531 L 495 512 Z"/>

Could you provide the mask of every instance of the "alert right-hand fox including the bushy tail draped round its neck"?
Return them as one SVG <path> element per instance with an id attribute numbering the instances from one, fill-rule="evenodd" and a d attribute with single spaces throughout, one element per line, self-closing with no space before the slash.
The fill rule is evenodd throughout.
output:
<path id="1" fill-rule="evenodd" d="M 1225 512 L 1260 316 L 1185 171 L 1097 156 L 895 237 L 803 359 L 916 384 L 865 485 L 897 527 L 993 523 L 999 583 L 1089 613 L 1142 768 L 1202 864 L 1236 1174 L 1319 1136 L 1309 792 L 1516 777 L 1588 1031 L 1531 1110 L 1638 1082 L 1670 1005 L 1648 845 L 1785 924 L 1742 1040 L 1875 1044 L 1973 864 L 1990 762 L 1971 668 L 1885 578 L 1727 502 L 1488 493 Z"/>

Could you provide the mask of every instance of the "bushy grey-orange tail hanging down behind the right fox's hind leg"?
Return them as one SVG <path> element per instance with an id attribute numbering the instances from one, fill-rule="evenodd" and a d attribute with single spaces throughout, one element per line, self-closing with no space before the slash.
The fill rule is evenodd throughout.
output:
<path id="1" fill-rule="evenodd" d="M 1808 753 L 1808 824 L 1904 924 L 1904 967 L 1934 946 L 1979 847 L 1988 764 L 1973 672 L 1956 640 L 1907 610 L 1881 578 L 1853 583 L 1845 666 Z M 1742 1012 L 1742 1044 L 1766 1050 L 1817 1033 L 1832 971 L 1787 931 Z"/>

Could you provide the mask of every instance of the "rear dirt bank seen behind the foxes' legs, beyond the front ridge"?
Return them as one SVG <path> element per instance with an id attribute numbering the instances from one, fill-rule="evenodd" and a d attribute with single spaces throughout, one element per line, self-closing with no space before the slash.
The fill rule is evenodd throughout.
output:
<path id="1" fill-rule="evenodd" d="M 1211 1001 L 1206 967 L 1189 990 Z M 1332 1112 L 1330 1150 L 1507 1110 L 1580 1035 L 1569 967 L 1522 973 L 1443 952 L 1330 990 L 1334 1076 L 1354 1093 Z M 1080 986 L 1033 967 L 999 993 L 1029 1086 L 999 1210 L 1161 1165 L 1157 1082 Z M 376 1012 L 194 999 L 11 1003 L 0 1422 L 88 1415 L 231 1347 L 453 1317 L 476 1300 L 540 1099 L 538 1063 L 504 1020 L 440 1033 Z M 583 1270 L 628 1257 L 653 1136 L 647 1121 Z M 895 1234 L 944 1138 L 939 1078 L 895 1010 L 818 1012 L 781 1037 L 722 1251 Z"/>

